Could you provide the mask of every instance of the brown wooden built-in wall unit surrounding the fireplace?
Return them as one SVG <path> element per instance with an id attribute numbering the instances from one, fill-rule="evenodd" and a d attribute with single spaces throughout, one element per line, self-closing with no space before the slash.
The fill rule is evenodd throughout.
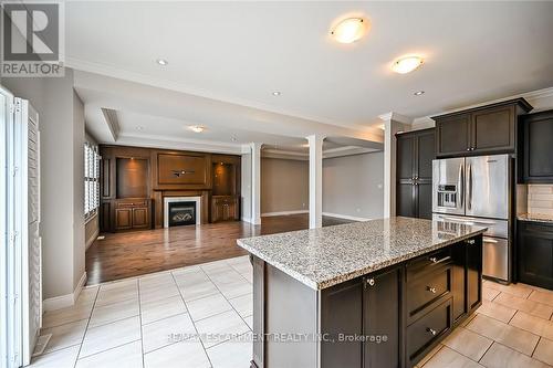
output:
<path id="1" fill-rule="evenodd" d="M 201 223 L 240 218 L 240 156 L 101 146 L 101 231 L 161 228 L 164 198 L 201 197 Z"/>

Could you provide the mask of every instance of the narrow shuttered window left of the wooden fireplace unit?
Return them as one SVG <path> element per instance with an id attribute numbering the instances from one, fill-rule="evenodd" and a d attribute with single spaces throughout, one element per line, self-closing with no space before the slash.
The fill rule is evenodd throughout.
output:
<path id="1" fill-rule="evenodd" d="M 96 214 L 100 207 L 100 154 L 98 147 L 84 144 L 84 217 Z"/>

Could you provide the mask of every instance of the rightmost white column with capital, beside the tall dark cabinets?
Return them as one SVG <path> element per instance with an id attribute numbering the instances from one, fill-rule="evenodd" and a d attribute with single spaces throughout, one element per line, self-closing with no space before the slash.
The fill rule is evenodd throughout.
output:
<path id="1" fill-rule="evenodd" d="M 384 217 L 396 215 L 396 133 L 408 130 L 409 118 L 396 113 L 378 116 L 384 122 Z"/>

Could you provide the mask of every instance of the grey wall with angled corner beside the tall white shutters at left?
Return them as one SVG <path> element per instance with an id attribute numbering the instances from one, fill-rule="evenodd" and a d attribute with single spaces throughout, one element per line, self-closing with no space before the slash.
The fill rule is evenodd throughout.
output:
<path id="1" fill-rule="evenodd" d="M 84 274 L 84 113 L 73 71 L 2 84 L 29 99 L 40 116 L 43 297 L 72 296 Z"/>

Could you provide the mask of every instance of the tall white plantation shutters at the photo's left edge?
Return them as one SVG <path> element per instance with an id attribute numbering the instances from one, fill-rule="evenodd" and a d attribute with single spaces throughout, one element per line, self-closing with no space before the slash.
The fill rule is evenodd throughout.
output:
<path id="1" fill-rule="evenodd" d="M 20 367 L 42 324 L 39 115 L 1 87 L 0 97 L 0 366 Z"/>

